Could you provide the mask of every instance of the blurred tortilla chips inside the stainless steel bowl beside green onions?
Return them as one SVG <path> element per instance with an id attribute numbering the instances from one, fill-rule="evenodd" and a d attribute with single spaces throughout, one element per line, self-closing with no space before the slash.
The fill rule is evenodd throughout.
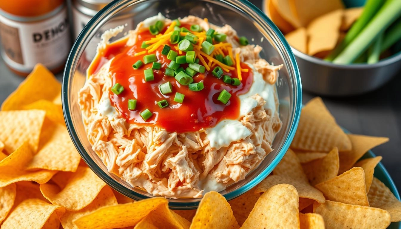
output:
<path id="1" fill-rule="evenodd" d="M 324 58 L 344 39 L 363 8 L 344 9 L 341 0 L 265 0 L 264 11 L 292 47 Z"/>

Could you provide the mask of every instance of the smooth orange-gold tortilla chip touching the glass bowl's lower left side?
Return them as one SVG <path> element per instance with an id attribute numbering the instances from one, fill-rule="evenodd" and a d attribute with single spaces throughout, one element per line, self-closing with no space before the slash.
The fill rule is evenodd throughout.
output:
<path id="1" fill-rule="evenodd" d="M 45 121 L 42 128 L 41 148 L 32 158 L 27 169 L 43 168 L 47 170 L 75 172 L 81 161 L 65 126 Z"/>

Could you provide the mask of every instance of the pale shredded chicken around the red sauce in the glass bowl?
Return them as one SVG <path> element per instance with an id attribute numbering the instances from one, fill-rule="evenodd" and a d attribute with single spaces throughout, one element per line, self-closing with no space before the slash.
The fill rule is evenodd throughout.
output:
<path id="1" fill-rule="evenodd" d="M 227 34 L 227 41 L 233 44 L 233 52 L 239 52 L 241 61 L 252 64 L 263 75 L 265 81 L 274 84 L 280 66 L 273 66 L 260 59 L 261 47 L 239 46 L 235 40 L 237 33 L 231 26 L 209 25 L 201 18 L 188 16 L 182 21 L 209 26 Z M 133 44 L 136 31 L 130 31 L 129 43 Z M 99 49 L 101 49 L 99 45 Z M 99 104 L 108 99 L 111 88 L 109 63 L 89 75 L 84 87 L 79 91 L 83 123 L 92 149 L 103 161 L 109 172 L 117 174 L 133 187 L 148 193 L 168 198 L 202 197 L 200 180 L 207 177 L 223 185 L 243 180 L 249 171 L 257 167 L 269 152 L 275 134 L 281 128 L 275 95 L 274 113 L 265 110 L 265 100 L 254 95 L 257 106 L 247 115 L 240 117 L 241 124 L 251 135 L 228 147 L 211 147 L 207 130 L 184 134 L 169 133 L 160 127 L 129 124 L 118 114 L 103 116 Z M 276 94 L 276 93 L 275 93 Z"/>

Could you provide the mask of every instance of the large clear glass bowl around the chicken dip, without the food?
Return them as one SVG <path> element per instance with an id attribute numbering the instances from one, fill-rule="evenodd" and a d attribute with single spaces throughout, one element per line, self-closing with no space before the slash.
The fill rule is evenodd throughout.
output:
<path id="1" fill-rule="evenodd" d="M 93 46 L 90 43 L 97 41 L 96 35 L 99 31 L 103 31 L 110 24 L 115 24 L 113 20 L 116 18 L 121 20 L 122 14 L 131 14 L 127 20 L 130 20 L 130 23 L 133 21 L 132 24 L 136 26 L 138 22 L 158 12 L 171 19 L 194 15 L 201 18 L 207 17 L 209 22 L 218 26 L 230 24 L 237 30 L 239 36 L 247 36 L 251 44 L 260 45 L 263 48 L 262 58 L 274 65 L 284 65 L 279 71 L 277 81 L 282 129 L 273 141 L 273 152 L 268 154 L 257 168 L 249 172 L 245 180 L 232 184 L 220 192 L 227 200 L 238 197 L 263 180 L 282 159 L 294 137 L 302 105 L 300 75 L 290 46 L 273 22 L 248 1 L 115 0 L 108 4 L 79 34 L 67 60 L 63 78 L 63 111 L 69 134 L 83 160 L 109 186 L 135 200 L 153 197 L 144 190 L 132 188 L 118 176 L 107 172 L 107 168 L 87 140 L 77 99 L 78 91 L 85 83 L 87 67 L 94 55 Z M 128 29 L 130 28 L 126 28 Z M 124 36 L 123 33 L 115 39 Z M 193 209 L 198 206 L 200 200 L 169 199 L 169 202 L 172 209 Z"/>

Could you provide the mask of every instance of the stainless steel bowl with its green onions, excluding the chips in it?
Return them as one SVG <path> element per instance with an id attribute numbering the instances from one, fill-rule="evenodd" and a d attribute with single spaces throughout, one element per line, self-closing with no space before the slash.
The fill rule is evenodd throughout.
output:
<path id="1" fill-rule="evenodd" d="M 306 91 L 360 95 L 389 82 L 401 69 L 401 0 L 344 0 L 344 5 L 363 10 L 328 55 L 318 58 L 292 48 Z"/>

